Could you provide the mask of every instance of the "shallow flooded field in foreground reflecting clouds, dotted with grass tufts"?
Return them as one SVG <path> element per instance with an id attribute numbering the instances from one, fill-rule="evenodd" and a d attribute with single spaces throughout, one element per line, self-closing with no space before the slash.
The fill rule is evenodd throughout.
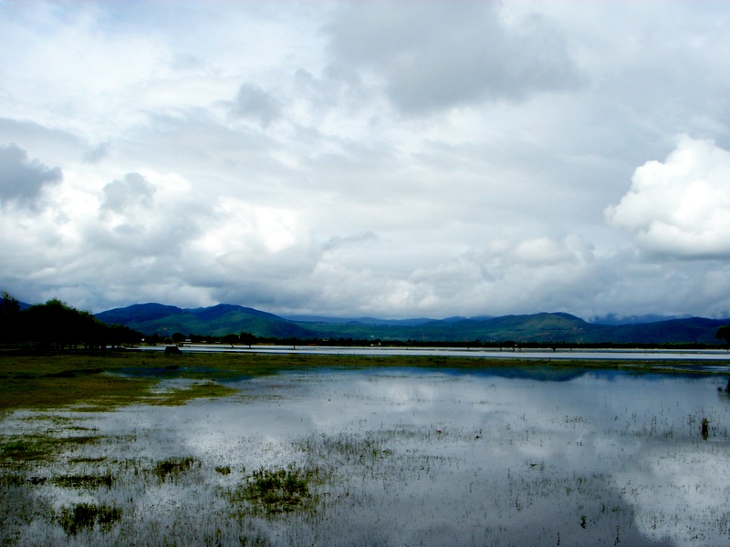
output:
<path id="1" fill-rule="evenodd" d="M 726 545 L 726 383 L 307 369 L 182 406 L 15 410 L 0 422 L 0 542 Z"/>

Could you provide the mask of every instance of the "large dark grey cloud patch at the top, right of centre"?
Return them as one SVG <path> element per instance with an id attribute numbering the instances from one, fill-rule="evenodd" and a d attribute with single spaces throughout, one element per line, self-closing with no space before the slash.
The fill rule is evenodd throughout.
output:
<path id="1" fill-rule="evenodd" d="M 327 27 L 331 70 L 370 71 L 401 111 L 522 100 L 580 81 L 564 39 L 541 17 L 506 26 L 493 2 L 356 2 Z"/>

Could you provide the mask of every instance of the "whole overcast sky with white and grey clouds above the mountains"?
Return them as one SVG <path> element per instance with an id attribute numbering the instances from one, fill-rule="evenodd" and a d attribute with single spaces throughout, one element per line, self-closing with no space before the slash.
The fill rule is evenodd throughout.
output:
<path id="1" fill-rule="evenodd" d="M 0 0 L 0 290 L 730 316 L 730 5 Z"/>

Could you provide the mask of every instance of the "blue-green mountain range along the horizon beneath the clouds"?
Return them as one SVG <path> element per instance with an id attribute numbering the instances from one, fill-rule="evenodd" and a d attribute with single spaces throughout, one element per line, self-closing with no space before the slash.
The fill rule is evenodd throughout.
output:
<path id="1" fill-rule="evenodd" d="M 235 304 L 179 308 L 134 304 L 101 312 L 110 325 L 125 325 L 145 335 L 223 336 L 242 332 L 263 338 L 357 339 L 416 342 L 505 342 L 566 344 L 711 344 L 717 327 L 730 319 L 684 317 L 631 324 L 588 323 L 575 315 L 539 313 L 446 319 L 281 317 Z"/>

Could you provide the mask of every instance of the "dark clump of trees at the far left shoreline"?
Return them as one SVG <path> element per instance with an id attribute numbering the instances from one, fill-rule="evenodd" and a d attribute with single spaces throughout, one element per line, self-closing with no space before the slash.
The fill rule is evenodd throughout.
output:
<path id="1" fill-rule="evenodd" d="M 0 303 L 0 343 L 41 349 L 100 349 L 139 344 L 143 335 L 124 325 L 107 325 L 89 312 L 53 298 L 21 309 L 3 293 Z"/>

